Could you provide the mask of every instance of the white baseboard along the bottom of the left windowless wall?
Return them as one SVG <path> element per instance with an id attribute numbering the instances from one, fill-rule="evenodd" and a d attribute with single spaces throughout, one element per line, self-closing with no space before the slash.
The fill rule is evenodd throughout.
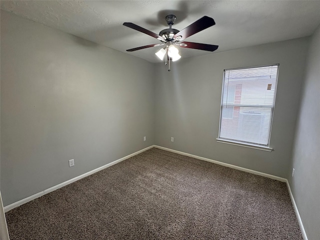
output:
<path id="1" fill-rule="evenodd" d="M 139 150 L 139 151 L 136 151 L 136 152 L 134 152 L 134 153 L 132 153 L 132 154 L 129 154 L 129 155 L 127 155 L 127 156 L 124 156 L 124 157 L 122 157 L 122 158 L 120 158 L 120 159 L 117 159 L 117 160 L 115 160 L 115 161 L 112 161 L 112 162 L 110 162 L 110 163 L 108 163 L 108 164 L 105 164 L 105 165 L 100 166 L 100 167 L 98 167 L 98 168 L 95 168 L 95 169 L 93 169 L 93 170 L 91 170 L 91 171 L 88 171 L 88 172 L 86 172 L 86 173 L 83 173 L 82 175 L 79 175 L 79 176 L 76 176 L 76 177 L 74 177 L 74 178 L 72 178 L 72 179 L 69 179 L 69 180 L 67 180 L 67 181 L 61 182 L 60 184 L 57 184 L 57 185 L 52 186 L 52 187 L 50 187 L 50 188 L 48 188 L 48 189 L 45 189 L 45 190 L 40 191 L 40 192 L 38 192 L 38 193 L 35 193 L 35 194 L 33 194 L 33 195 L 31 195 L 31 196 L 28 196 L 28 197 L 26 197 L 26 198 L 23 198 L 23 199 L 21 199 L 21 200 L 19 200 L 19 201 L 13 202 L 13 203 L 11 203 L 11 204 L 9 204 L 9 205 L 7 205 L 7 206 L 4 207 L 4 212 L 7 212 L 7 211 L 9 211 L 9 210 L 11 210 L 11 209 L 19 206 L 19 205 L 22 205 L 22 204 L 24 204 L 24 203 L 26 203 L 26 202 L 28 202 L 28 201 L 31 201 L 31 200 L 33 200 L 33 199 L 35 199 L 35 198 L 40 197 L 40 196 L 43 196 L 43 195 L 46 194 L 46 193 L 49 193 L 49 192 L 51 192 L 51 191 L 54 191 L 54 190 L 56 190 L 56 189 L 58 189 L 58 188 L 60 188 L 60 187 L 62 187 L 62 186 L 65 186 L 65 185 L 67 185 L 67 184 L 70 184 L 70 183 L 72 183 L 72 182 L 74 182 L 74 181 L 76 181 L 76 180 L 79 180 L 79 179 L 83 178 L 83 177 L 86 177 L 86 176 L 91 175 L 91 174 L 93 174 L 93 173 L 95 173 L 95 172 L 98 172 L 98 171 L 100 171 L 100 170 L 102 170 L 102 169 L 104 169 L 104 168 L 107 168 L 107 167 L 109 167 L 109 166 L 112 166 L 112 165 L 114 165 L 115 163 L 118 163 L 118 162 L 120 162 L 120 161 L 123 161 L 123 160 L 125 160 L 125 159 L 127 159 L 127 158 L 129 158 L 129 157 L 131 157 L 131 156 L 134 156 L 134 155 L 136 155 L 136 154 L 139 154 L 139 153 L 141 153 L 141 152 L 143 152 L 143 151 L 146 151 L 146 150 L 148 150 L 148 149 L 150 149 L 150 148 L 152 148 L 152 147 L 153 147 L 153 145 L 148 146 L 148 147 L 143 148 L 143 149 L 141 149 L 141 150 Z"/>

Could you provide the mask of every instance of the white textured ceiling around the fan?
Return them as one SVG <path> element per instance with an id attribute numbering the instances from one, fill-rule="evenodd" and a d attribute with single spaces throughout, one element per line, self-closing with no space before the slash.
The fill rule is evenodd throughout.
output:
<path id="1" fill-rule="evenodd" d="M 320 24 L 320 0 L 1 0 L 0 8 L 122 52 L 160 43 L 123 22 L 159 33 L 168 28 L 167 14 L 176 15 L 172 27 L 178 30 L 204 15 L 212 17 L 214 26 L 185 40 L 219 45 L 215 52 L 308 36 Z M 158 48 L 126 53 L 158 62 L 154 55 Z M 180 51 L 182 57 L 211 53 L 190 48 Z"/>

